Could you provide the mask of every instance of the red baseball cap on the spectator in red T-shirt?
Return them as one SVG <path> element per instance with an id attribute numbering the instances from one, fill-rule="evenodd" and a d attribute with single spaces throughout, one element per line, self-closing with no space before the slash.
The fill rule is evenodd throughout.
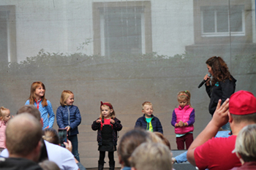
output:
<path id="1" fill-rule="evenodd" d="M 240 90 L 230 96 L 229 109 L 233 115 L 256 113 L 256 98 L 251 92 Z"/>

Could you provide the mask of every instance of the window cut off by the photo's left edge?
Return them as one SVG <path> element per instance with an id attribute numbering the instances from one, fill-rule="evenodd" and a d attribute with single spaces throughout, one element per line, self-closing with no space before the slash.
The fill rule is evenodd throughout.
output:
<path id="1" fill-rule="evenodd" d="M 15 6 L 0 6 L 0 62 L 17 61 Z"/>

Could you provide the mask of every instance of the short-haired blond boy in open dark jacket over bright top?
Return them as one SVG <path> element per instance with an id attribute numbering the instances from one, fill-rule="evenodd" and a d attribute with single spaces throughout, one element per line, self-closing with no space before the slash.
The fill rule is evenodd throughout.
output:
<path id="1" fill-rule="evenodd" d="M 153 106 L 151 102 L 145 101 L 142 104 L 142 112 L 144 113 L 143 117 L 139 117 L 135 123 L 135 128 L 141 127 L 147 131 L 158 131 L 163 134 L 162 125 L 160 120 L 153 115 Z"/>

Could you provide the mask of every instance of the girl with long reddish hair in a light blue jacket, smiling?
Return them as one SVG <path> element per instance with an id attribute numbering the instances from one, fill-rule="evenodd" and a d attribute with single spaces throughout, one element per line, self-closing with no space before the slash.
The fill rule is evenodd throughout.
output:
<path id="1" fill-rule="evenodd" d="M 43 121 L 42 129 L 53 128 L 55 115 L 50 101 L 45 98 L 45 85 L 42 82 L 32 83 L 29 100 L 25 105 L 27 104 L 34 104 L 39 109 Z"/>

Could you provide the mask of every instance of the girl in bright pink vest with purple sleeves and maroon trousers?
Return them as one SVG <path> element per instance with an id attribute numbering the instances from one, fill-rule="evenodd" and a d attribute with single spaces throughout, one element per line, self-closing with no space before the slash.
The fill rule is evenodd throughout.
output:
<path id="1" fill-rule="evenodd" d="M 193 142 L 195 109 L 190 104 L 189 91 L 178 92 L 179 107 L 173 110 L 173 119 L 171 124 L 175 127 L 176 143 L 178 150 L 184 150 L 184 142 L 188 149 Z"/>

